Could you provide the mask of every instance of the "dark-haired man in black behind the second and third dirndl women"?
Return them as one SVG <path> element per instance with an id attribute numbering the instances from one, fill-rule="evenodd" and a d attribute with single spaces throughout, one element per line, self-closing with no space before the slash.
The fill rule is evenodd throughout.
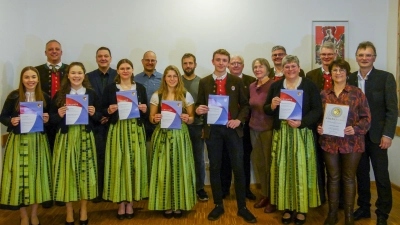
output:
<path id="1" fill-rule="evenodd" d="M 92 85 L 93 90 L 96 92 L 99 99 L 102 99 L 104 88 L 113 83 L 115 77 L 117 76 L 117 71 L 110 67 L 112 57 L 111 51 L 107 47 L 100 47 L 96 51 L 96 62 L 98 68 L 93 70 L 90 73 L 87 73 L 86 76 L 89 79 L 90 84 Z M 106 141 L 107 141 L 107 121 L 108 118 L 101 118 L 100 122 L 95 124 L 94 127 L 94 137 L 96 140 L 96 151 L 97 151 L 97 168 L 98 168 L 98 193 L 95 199 L 93 199 L 94 203 L 98 203 L 102 201 L 103 194 L 103 183 L 104 183 L 104 157 L 106 151 Z"/>

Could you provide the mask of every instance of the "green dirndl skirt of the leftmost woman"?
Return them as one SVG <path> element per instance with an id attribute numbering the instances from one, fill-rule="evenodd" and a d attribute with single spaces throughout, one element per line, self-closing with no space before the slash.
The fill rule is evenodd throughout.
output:
<path id="1" fill-rule="evenodd" d="M 51 161 L 46 134 L 10 133 L 1 178 L 0 205 L 19 209 L 52 200 Z"/>

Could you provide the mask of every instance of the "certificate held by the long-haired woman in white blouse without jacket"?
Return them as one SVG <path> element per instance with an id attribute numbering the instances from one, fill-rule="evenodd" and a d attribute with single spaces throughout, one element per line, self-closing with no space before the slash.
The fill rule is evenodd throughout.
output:
<path id="1" fill-rule="evenodd" d="M 162 100 L 161 128 L 181 129 L 182 102 Z"/>

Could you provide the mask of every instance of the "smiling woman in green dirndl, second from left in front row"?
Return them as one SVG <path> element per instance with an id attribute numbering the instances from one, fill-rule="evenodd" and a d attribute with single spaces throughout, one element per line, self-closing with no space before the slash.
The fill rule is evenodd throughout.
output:
<path id="1" fill-rule="evenodd" d="M 53 152 L 53 195 L 55 201 L 66 202 L 67 225 L 74 224 L 72 202 L 80 201 L 80 224 L 88 224 L 87 201 L 97 197 L 97 157 L 93 123 L 102 115 L 99 100 L 91 89 L 85 67 L 71 63 L 61 81 L 50 107 L 50 122 L 56 124 L 57 134 Z M 66 124 L 66 95 L 82 95 L 88 101 L 88 124 Z M 84 95 L 84 96 L 83 96 Z"/>

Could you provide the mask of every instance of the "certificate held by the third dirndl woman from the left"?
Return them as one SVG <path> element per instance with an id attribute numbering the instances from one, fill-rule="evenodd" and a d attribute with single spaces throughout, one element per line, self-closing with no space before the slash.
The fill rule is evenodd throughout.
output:
<path id="1" fill-rule="evenodd" d="M 120 120 L 140 117 L 137 93 L 135 90 L 117 92 L 117 103 Z"/>

